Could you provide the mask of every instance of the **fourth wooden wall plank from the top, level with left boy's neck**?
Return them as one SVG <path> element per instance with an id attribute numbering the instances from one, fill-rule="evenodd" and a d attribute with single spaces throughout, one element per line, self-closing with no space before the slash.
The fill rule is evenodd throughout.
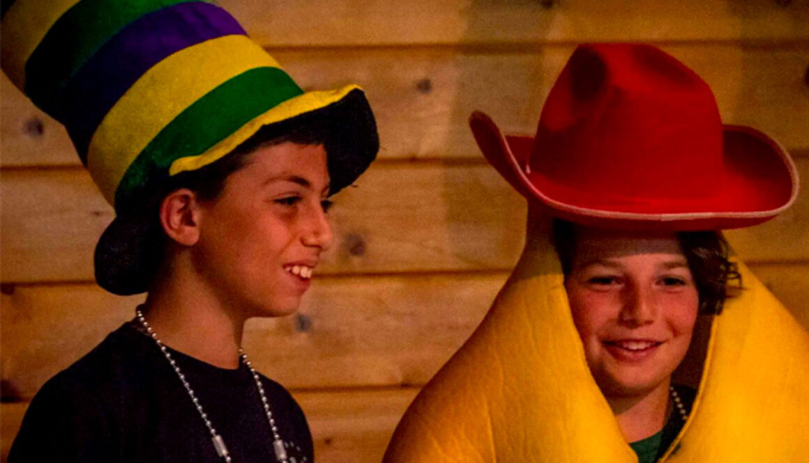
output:
<path id="1" fill-rule="evenodd" d="M 809 263 L 751 267 L 809 329 Z M 423 385 L 472 334 L 507 276 L 324 278 L 298 314 L 248 322 L 244 346 L 257 368 L 292 388 Z M 132 318 L 139 301 L 90 284 L 19 286 L 3 294 L 5 398 L 31 398 Z"/>

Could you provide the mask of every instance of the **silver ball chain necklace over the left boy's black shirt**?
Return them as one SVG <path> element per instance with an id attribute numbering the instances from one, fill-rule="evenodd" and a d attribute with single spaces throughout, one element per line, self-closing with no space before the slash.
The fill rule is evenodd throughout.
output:
<path id="1" fill-rule="evenodd" d="M 222 436 L 219 436 L 214 428 L 214 424 L 210 422 L 210 419 L 208 419 L 208 415 L 205 414 L 205 410 L 202 409 L 202 405 L 197 398 L 197 394 L 194 394 L 194 389 L 191 389 L 191 385 L 188 384 L 188 381 L 185 379 L 185 375 L 180 371 L 180 367 L 177 366 L 177 362 L 172 358 L 172 354 L 160 341 L 157 333 L 155 333 L 155 330 L 152 330 L 149 323 L 146 322 L 146 318 L 143 316 L 141 309 L 135 309 L 135 316 L 138 318 L 138 322 L 140 322 L 141 326 L 143 326 L 143 329 L 146 330 L 146 333 L 151 337 L 151 339 L 155 339 L 155 343 L 157 343 L 160 351 L 163 352 L 163 356 L 166 356 L 166 360 L 168 360 L 168 363 L 172 365 L 174 372 L 177 373 L 177 377 L 180 378 L 180 381 L 183 383 L 185 391 L 188 393 L 188 397 L 191 398 L 191 402 L 193 402 L 194 406 L 197 407 L 197 411 L 199 412 L 202 421 L 205 422 L 205 426 L 208 427 L 208 431 L 210 431 L 210 440 L 214 444 L 217 454 L 219 457 L 222 457 L 222 460 L 226 461 L 227 463 L 231 463 L 231 454 L 227 451 L 225 440 L 222 439 Z M 256 373 L 256 369 L 252 368 L 252 364 L 250 363 L 250 360 L 248 360 L 247 354 L 244 353 L 241 347 L 239 347 L 239 360 L 241 360 L 241 362 L 250 370 L 253 381 L 256 381 L 256 388 L 258 389 L 258 394 L 261 396 L 261 405 L 264 407 L 264 413 L 267 416 L 267 423 L 269 423 L 270 430 L 273 431 L 273 451 L 275 452 L 275 458 L 277 461 L 279 461 L 279 463 L 289 463 L 289 460 L 286 457 L 284 441 L 278 434 L 278 427 L 275 425 L 273 411 L 270 410 L 269 401 L 267 400 L 267 395 L 264 392 L 264 386 L 261 385 L 261 380 L 258 373 Z"/>

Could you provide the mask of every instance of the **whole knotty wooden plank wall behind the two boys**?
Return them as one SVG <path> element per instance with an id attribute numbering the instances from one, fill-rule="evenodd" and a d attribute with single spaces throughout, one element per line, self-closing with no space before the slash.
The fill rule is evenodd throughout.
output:
<path id="1" fill-rule="evenodd" d="M 249 322 L 260 370 L 307 412 L 319 461 L 379 461 L 401 413 L 485 314 L 515 263 L 525 205 L 468 132 L 474 109 L 532 133 L 574 45 L 659 44 L 713 87 L 727 123 L 777 137 L 809 181 L 806 0 L 221 0 L 304 88 L 358 82 L 379 161 L 337 196 L 337 246 L 299 314 Z M 0 347 L 6 453 L 42 383 L 142 297 L 92 282 L 111 208 L 66 133 L 5 77 Z M 809 327 L 809 188 L 790 212 L 728 234 Z"/>

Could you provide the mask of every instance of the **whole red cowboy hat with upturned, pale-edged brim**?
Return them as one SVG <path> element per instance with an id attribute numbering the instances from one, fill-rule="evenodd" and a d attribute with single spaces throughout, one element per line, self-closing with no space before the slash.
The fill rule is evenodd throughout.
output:
<path id="1" fill-rule="evenodd" d="M 506 137 L 482 112 L 469 124 L 518 192 L 583 225 L 738 228 L 798 196 L 786 150 L 754 128 L 723 125 L 708 84 L 650 45 L 576 48 L 536 137 Z"/>

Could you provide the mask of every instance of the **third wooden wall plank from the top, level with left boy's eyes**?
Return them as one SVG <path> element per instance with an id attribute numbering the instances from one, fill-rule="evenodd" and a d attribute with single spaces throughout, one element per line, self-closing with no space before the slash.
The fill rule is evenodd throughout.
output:
<path id="1" fill-rule="evenodd" d="M 809 158 L 798 158 L 809 178 Z M 336 196 L 327 274 L 507 270 L 523 247 L 525 201 L 484 162 L 378 163 Z M 3 172 L 2 282 L 91 281 L 112 208 L 87 172 Z M 809 190 L 776 219 L 727 236 L 749 262 L 809 260 Z"/>

